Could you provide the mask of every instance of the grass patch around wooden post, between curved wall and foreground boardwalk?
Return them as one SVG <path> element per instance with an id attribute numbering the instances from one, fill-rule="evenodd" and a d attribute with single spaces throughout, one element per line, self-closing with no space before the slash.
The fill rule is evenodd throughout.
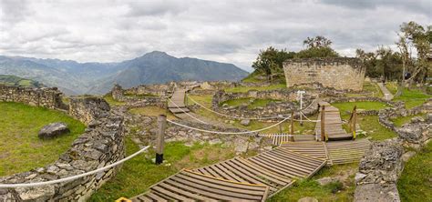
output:
<path id="1" fill-rule="evenodd" d="M 139 150 L 129 138 L 126 139 L 127 155 Z M 147 157 L 146 157 L 147 156 Z M 134 197 L 149 189 L 160 180 L 170 177 L 181 168 L 202 167 L 234 156 L 230 148 L 220 145 L 184 146 L 181 142 L 166 144 L 164 157 L 167 162 L 156 166 L 151 158 L 154 151 L 141 154 L 127 161 L 117 176 L 98 189 L 88 201 L 114 201 L 119 197 Z"/>

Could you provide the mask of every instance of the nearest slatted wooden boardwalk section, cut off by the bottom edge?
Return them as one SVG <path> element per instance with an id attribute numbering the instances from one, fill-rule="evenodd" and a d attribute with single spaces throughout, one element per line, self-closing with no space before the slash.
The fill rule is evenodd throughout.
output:
<path id="1" fill-rule="evenodd" d="M 132 201 L 265 201 L 268 187 L 182 170 Z"/>

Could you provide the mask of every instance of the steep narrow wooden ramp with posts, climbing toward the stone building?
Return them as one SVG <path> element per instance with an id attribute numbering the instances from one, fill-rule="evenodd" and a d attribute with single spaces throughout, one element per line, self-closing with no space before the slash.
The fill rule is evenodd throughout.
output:
<path id="1" fill-rule="evenodd" d="M 325 106 L 324 111 L 324 132 L 325 136 L 328 137 L 329 141 L 332 140 L 346 140 L 352 139 L 353 136 L 351 134 L 346 133 L 344 128 L 342 128 L 342 119 L 339 112 L 339 109 L 330 106 L 330 104 L 326 102 L 320 102 L 320 106 Z M 318 117 L 321 117 L 321 108 L 320 114 Z M 318 122 L 315 126 L 315 135 L 321 136 L 321 123 Z"/>

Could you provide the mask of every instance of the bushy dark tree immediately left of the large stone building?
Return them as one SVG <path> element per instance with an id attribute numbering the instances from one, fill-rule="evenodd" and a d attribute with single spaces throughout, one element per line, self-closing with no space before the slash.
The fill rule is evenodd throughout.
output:
<path id="1" fill-rule="evenodd" d="M 286 49 L 278 50 L 270 46 L 260 51 L 252 67 L 267 76 L 269 81 L 273 81 L 274 76 L 283 75 L 283 61 L 293 58 L 294 55 L 294 52 L 287 52 Z"/>

